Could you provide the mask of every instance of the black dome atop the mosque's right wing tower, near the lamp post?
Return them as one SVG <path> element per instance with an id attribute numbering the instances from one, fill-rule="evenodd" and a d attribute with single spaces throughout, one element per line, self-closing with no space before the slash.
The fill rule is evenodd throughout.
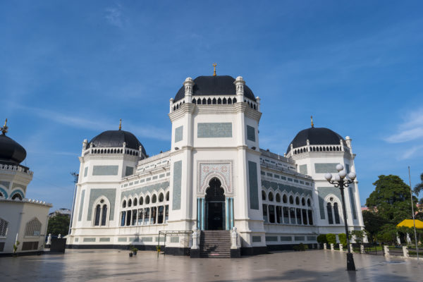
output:
<path id="1" fill-rule="evenodd" d="M 307 145 L 307 139 L 310 142 L 310 145 L 339 145 L 340 140 L 343 140 L 344 145 L 346 146 L 345 140 L 338 133 L 330 130 L 329 128 L 307 128 L 301 130 L 293 139 L 290 144 L 293 145 L 294 149 Z M 290 151 L 290 145 L 286 150 L 286 153 Z"/>

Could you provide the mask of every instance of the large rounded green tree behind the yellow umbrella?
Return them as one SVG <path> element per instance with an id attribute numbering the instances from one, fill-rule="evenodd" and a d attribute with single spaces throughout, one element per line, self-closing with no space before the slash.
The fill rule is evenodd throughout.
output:
<path id="1" fill-rule="evenodd" d="M 398 176 L 379 176 L 366 205 L 391 224 L 398 224 L 412 216 L 410 187 Z M 414 203 L 417 198 L 413 196 Z M 415 207 L 416 208 L 416 207 Z"/>

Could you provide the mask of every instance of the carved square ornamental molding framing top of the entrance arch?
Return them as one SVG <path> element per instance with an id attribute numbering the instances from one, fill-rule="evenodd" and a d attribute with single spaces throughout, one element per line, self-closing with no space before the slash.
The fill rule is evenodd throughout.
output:
<path id="1" fill-rule="evenodd" d="M 197 161 L 198 195 L 205 195 L 209 181 L 219 178 L 226 197 L 233 195 L 233 161 L 202 160 Z"/>

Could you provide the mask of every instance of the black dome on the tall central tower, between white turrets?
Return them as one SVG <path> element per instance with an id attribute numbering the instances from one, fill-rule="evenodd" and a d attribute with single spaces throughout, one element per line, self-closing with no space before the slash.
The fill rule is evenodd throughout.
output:
<path id="1" fill-rule="evenodd" d="M 199 76 L 195 78 L 194 87 L 192 87 L 192 96 L 205 95 L 236 95 L 235 85 L 233 82 L 235 78 L 230 75 L 211 75 Z M 252 101 L 255 101 L 255 96 L 250 88 L 245 85 L 244 96 Z M 180 87 L 176 93 L 174 101 L 179 101 L 185 97 L 185 87 Z"/>

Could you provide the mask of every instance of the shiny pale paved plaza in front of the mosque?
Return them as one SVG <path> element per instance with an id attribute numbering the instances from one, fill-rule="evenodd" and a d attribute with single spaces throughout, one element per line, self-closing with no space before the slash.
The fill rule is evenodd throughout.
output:
<path id="1" fill-rule="evenodd" d="M 415 259 L 345 253 L 274 252 L 240 259 L 190 259 L 123 250 L 66 250 L 65 255 L 0 257 L 0 281 L 422 281 Z"/>

